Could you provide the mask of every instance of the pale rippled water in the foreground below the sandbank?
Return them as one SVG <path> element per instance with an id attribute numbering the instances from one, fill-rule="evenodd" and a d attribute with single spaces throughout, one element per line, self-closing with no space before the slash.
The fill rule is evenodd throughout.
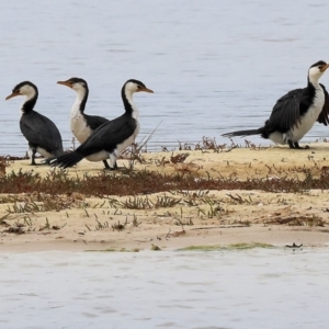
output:
<path id="1" fill-rule="evenodd" d="M 3 328 L 328 328 L 327 249 L 1 254 Z"/>

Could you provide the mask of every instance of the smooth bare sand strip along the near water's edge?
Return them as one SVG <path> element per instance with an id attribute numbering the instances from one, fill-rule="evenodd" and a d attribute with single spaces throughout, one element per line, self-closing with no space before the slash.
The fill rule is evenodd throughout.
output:
<path id="1" fill-rule="evenodd" d="M 245 228 L 209 228 L 195 227 L 168 232 L 164 229 L 157 230 L 158 235 L 149 232 L 132 235 L 126 231 L 121 236 L 111 236 L 109 231 L 98 238 L 89 239 L 87 236 L 77 236 L 73 240 L 58 239 L 53 236 L 27 236 L 11 239 L 1 239 L 0 252 L 29 253 L 42 251 L 69 251 L 69 252 L 143 252 L 143 251 L 177 251 L 177 250 L 216 250 L 272 248 L 303 245 L 303 248 L 324 248 L 329 245 L 329 234 L 326 228 L 300 228 L 300 227 L 264 227 L 256 225 Z M 127 235 L 131 235 L 127 237 Z M 150 237 L 151 236 L 151 237 Z M 159 239 L 160 238 L 160 239 Z M 159 248 L 159 249 L 158 249 Z M 296 248 L 298 249 L 298 248 Z"/>

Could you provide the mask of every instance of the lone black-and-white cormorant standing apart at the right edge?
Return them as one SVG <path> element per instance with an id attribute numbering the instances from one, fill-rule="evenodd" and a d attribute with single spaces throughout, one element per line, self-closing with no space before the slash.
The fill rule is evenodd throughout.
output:
<path id="1" fill-rule="evenodd" d="M 258 129 L 224 134 L 225 137 L 261 135 L 276 144 L 302 148 L 298 141 L 316 122 L 329 124 L 329 94 L 319 83 L 329 64 L 319 60 L 308 69 L 307 87 L 295 89 L 276 101 L 270 118 Z"/>

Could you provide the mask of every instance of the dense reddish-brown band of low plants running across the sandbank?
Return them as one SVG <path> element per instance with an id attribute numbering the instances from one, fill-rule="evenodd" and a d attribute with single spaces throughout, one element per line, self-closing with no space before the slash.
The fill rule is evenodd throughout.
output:
<path id="1" fill-rule="evenodd" d="M 208 191 L 208 190 L 261 190 L 265 192 L 292 192 L 305 193 L 310 189 L 329 189 L 329 172 L 319 170 L 317 177 L 314 170 L 300 169 L 298 177 L 288 177 L 281 172 L 275 179 L 248 178 L 245 181 L 238 180 L 236 175 L 225 177 L 200 177 L 193 171 L 174 172 L 171 174 L 154 172 L 148 170 L 123 172 L 100 172 L 82 178 L 69 177 L 65 170 L 52 170 L 45 178 L 38 173 L 10 172 L 0 177 L 0 193 L 37 194 L 46 201 L 44 194 L 49 195 L 47 203 L 52 204 L 54 195 L 65 194 L 73 201 L 73 195 L 86 195 L 107 197 L 107 195 L 138 195 L 170 191 Z M 44 194 L 43 194 L 44 193 Z M 76 194 L 75 194 L 76 193 Z M 78 193 L 78 194 L 77 194 Z M 81 196 L 80 196 L 81 197 Z M 135 196 L 136 197 L 136 196 Z M 237 195 L 231 195 L 231 198 Z M 39 201 L 36 200 L 36 201 Z M 76 198 L 75 198 L 76 200 Z M 247 202 L 236 200 L 237 203 Z M 137 202 L 137 200 L 132 201 Z"/>

